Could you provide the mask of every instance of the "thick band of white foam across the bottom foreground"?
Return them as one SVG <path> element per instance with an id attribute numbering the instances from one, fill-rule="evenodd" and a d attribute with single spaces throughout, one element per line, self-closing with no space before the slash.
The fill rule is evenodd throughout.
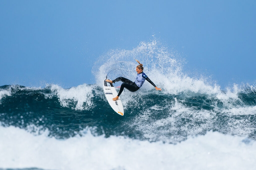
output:
<path id="1" fill-rule="evenodd" d="M 0 127 L 1 168 L 43 169 L 254 169 L 256 142 L 207 132 L 174 144 L 93 136 L 66 140 Z"/>

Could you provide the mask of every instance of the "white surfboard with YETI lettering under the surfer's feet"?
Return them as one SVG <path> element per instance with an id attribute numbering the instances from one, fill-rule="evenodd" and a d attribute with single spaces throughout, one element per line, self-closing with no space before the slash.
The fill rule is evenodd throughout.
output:
<path id="1" fill-rule="evenodd" d="M 120 97 L 116 101 L 112 100 L 113 98 L 115 98 L 117 96 L 117 92 L 116 92 L 113 84 L 109 83 L 109 82 L 106 82 L 105 80 L 103 81 L 103 90 L 104 90 L 105 96 L 106 96 L 106 98 L 109 102 L 109 105 L 112 107 L 112 109 L 116 113 L 123 116 L 124 115 L 124 108 L 123 108 L 123 104 L 120 100 Z"/>

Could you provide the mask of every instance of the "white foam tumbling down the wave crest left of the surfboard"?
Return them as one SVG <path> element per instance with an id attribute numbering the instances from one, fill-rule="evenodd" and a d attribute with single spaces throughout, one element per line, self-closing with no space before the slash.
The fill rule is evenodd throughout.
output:
<path id="1" fill-rule="evenodd" d="M 52 84 L 52 94 L 50 95 L 57 95 L 63 107 L 71 106 L 75 110 L 87 110 L 93 106 L 92 98 L 94 95 L 92 90 L 94 88 L 95 86 L 93 85 L 82 84 L 77 87 L 71 87 L 70 89 L 63 89 L 56 84 Z M 75 104 L 75 107 L 72 106 L 73 104 Z"/>

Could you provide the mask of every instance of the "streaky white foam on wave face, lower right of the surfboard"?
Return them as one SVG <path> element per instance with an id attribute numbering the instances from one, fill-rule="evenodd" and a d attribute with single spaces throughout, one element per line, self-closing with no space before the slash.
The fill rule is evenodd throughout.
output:
<path id="1" fill-rule="evenodd" d="M 142 101 L 142 100 L 141 100 Z M 231 109 L 198 110 L 193 106 L 186 106 L 177 101 L 167 102 L 164 106 L 156 104 L 137 115 L 128 124 L 131 128 L 140 131 L 150 141 L 165 141 L 177 143 L 185 140 L 187 136 L 204 134 L 207 129 L 217 129 L 220 132 L 246 136 L 255 130 L 253 122 L 247 118 L 238 119 L 234 116 L 255 115 L 256 106 L 239 106 Z M 136 106 L 140 107 L 140 106 Z M 160 112 L 157 120 L 155 114 Z M 219 113 L 218 116 L 216 114 Z M 227 120 L 218 120 L 225 115 Z M 220 124 L 220 125 L 219 125 Z M 170 138 L 172 134 L 172 138 Z"/>

